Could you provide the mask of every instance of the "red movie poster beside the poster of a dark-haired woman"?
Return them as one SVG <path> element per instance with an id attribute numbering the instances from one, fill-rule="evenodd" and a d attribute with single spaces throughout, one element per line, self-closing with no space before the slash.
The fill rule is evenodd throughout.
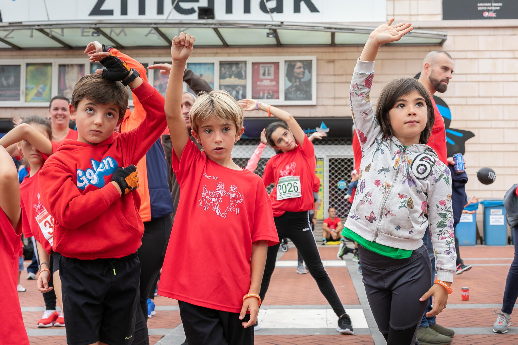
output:
<path id="1" fill-rule="evenodd" d="M 252 98 L 279 99 L 279 63 L 252 63 Z"/>

